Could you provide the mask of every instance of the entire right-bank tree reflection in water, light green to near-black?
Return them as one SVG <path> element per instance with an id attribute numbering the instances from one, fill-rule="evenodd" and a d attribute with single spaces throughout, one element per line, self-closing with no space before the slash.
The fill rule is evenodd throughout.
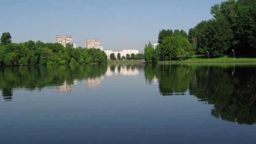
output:
<path id="1" fill-rule="evenodd" d="M 184 93 L 189 88 L 199 101 L 213 104 L 211 115 L 240 124 L 256 123 L 256 67 L 147 65 L 146 81 L 157 77 L 163 96 Z"/>

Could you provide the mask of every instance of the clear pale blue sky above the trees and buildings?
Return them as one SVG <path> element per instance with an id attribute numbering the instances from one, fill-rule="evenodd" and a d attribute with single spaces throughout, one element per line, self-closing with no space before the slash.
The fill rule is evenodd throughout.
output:
<path id="1" fill-rule="evenodd" d="M 72 35 L 85 47 L 86 38 L 101 40 L 104 50 L 138 49 L 157 42 L 161 29 L 184 29 L 211 19 L 211 6 L 224 0 L 3 0 L 0 34 L 14 43 L 55 42 Z"/>

